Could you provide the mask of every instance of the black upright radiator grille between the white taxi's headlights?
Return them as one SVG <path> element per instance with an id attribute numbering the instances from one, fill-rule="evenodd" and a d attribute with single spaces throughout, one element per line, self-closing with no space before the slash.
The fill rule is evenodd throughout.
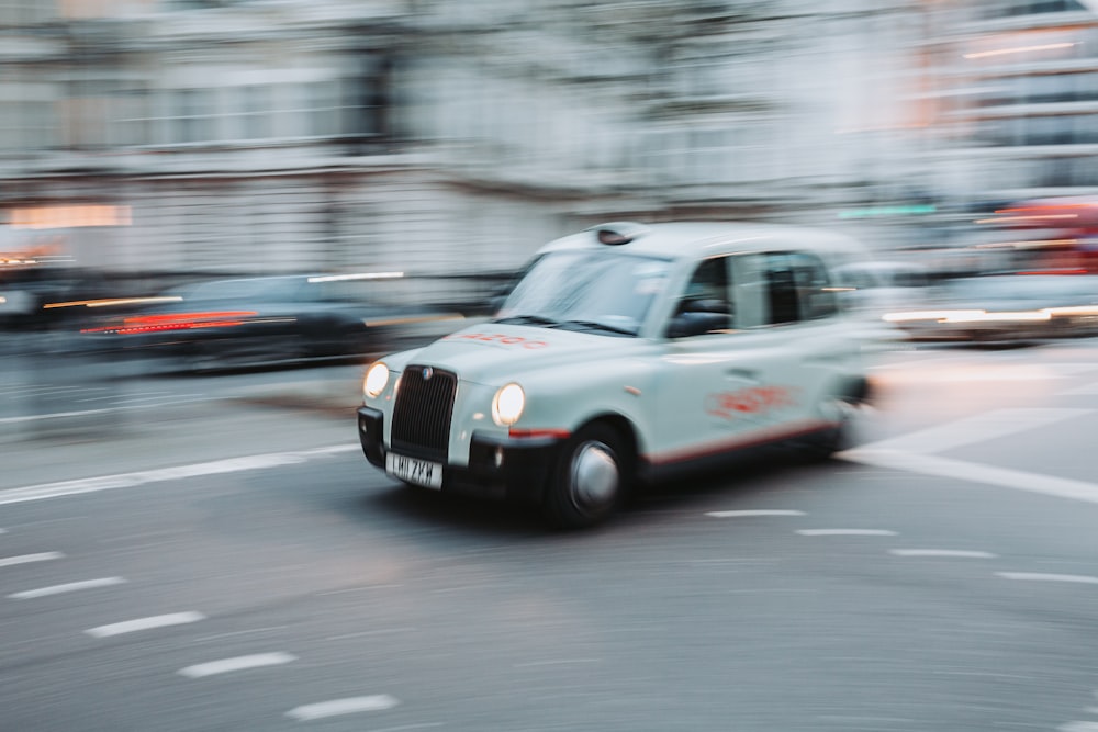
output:
<path id="1" fill-rule="evenodd" d="M 449 371 L 408 365 L 393 405 L 393 451 L 446 461 L 458 378 Z"/>

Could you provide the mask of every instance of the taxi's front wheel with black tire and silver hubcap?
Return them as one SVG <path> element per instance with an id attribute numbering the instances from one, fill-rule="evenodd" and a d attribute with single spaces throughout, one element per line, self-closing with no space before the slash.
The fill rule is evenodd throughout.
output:
<path id="1" fill-rule="evenodd" d="M 563 444 L 542 509 L 559 529 L 604 521 L 632 483 L 632 458 L 620 432 L 605 423 L 580 429 Z"/>

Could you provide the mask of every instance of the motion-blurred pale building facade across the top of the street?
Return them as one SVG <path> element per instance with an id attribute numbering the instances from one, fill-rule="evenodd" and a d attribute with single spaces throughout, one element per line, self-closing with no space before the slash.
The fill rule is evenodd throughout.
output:
<path id="1" fill-rule="evenodd" d="M 957 53 L 1098 32 L 1078 3 L 820 4 L 0 0 L 0 251 L 483 273 L 605 219 L 898 246 L 929 236 L 912 212 L 1098 185 L 1083 41 Z"/>

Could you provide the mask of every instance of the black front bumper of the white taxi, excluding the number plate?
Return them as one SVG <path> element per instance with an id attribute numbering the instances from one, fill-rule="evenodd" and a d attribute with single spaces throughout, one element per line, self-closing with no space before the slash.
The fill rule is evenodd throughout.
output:
<path id="1" fill-rule="evenodd" d="M 370 463 L 385 470 L 384 415 L 358 409 L 358 439 Z M 469 464 L 442 466 L 442 491 L 538 504 L 551 480 L 562 438 L 512 438 L 473 432 Z"/>

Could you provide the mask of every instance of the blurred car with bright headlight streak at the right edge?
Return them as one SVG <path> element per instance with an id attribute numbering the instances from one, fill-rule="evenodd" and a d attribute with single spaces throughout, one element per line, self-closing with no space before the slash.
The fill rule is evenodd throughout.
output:
<path id="1" fill-rule="evenodd" d="M 1098 275 L 991 274 L 946 280 L 884 319 L 912 340 L 1005 342 L 1098 335 Z"/>

